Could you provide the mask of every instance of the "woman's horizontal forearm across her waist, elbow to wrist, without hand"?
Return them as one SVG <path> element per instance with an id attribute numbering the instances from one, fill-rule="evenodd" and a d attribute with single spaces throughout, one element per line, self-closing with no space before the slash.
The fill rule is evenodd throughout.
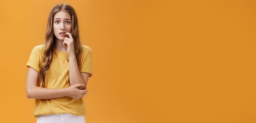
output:
<path id="1" fill-rule="evenodd" d="M 52 99 L 58 98 L 67 95 L 66 89 L 49 89 L 49 88 L 42 88 L 38 86 L 30 87 L 28 91 L 28 98 L 35 98 L 35 99 Z"/>

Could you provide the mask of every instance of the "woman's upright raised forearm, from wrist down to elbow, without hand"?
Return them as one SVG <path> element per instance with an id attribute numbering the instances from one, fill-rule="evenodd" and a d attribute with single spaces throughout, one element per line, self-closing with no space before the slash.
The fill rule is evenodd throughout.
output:
<path id="1" fill-rule="evenodd" d="M 80 90 L 86 88 L 86 83 L 83 81 L 83 77 L 77 65 L 77 60 L 75 55 L 69 56 L 69 82 L 70 86 L 74 84 L 85 84 L 84 86 L 78 87 Z"/>

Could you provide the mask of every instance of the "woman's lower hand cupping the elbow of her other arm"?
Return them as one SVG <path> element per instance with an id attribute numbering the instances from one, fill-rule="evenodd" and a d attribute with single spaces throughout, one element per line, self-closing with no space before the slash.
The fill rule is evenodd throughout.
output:
<path id="1" fill-rule="evenodd" d="M 75 84 L 75 85 L 69 86 L 69 88 L 66 88 L 67 92 L 68 92 L 67 96 L 74 98 L 74 99 L 79 99 L 79 98 L 85 96 L 87 93 L 87 88 L 85 88 L 85 90 L 77 89 L 78 87 L 83 86 L 83 85 L 84 84 Z"/>

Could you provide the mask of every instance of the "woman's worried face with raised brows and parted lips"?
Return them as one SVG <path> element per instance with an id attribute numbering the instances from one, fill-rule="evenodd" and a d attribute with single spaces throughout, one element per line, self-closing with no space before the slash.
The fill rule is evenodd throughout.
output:
<path id="1" fill-rule="evenodd" d="M 67 12 L 59 11 L 54 15 L 53 18 L 53 33 L 56 40 L 64 40 L 65 37 L 69 35 L 63 35 L 66 32 L 71 33 L 72 23 L 71 16 Z"/>

